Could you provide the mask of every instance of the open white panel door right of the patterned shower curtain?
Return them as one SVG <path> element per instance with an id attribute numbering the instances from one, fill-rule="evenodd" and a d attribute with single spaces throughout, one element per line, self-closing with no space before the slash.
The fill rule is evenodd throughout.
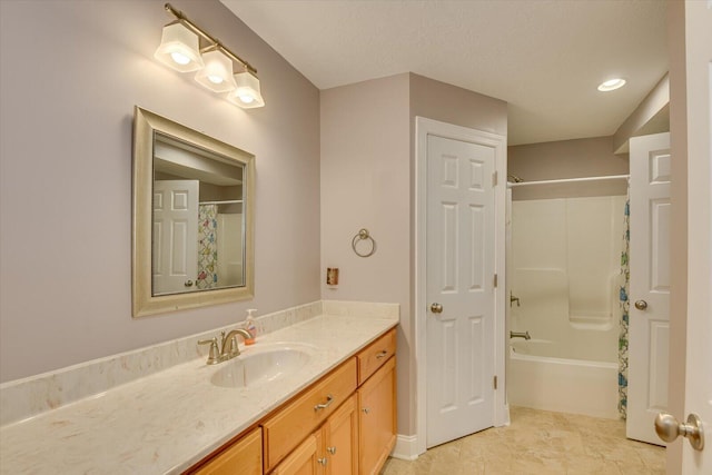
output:
<path id="1" fill-rule="evenodd" d="M 663 445 L 670 339 L 670 133 L 631 138 L 629 438 Z"/>

